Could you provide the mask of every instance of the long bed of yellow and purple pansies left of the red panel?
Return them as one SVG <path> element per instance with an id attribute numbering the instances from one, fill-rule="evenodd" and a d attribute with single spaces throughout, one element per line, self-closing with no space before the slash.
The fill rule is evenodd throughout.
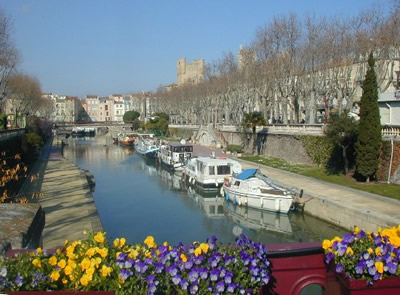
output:
<path id="1" fill-rule="evenodd" d="M 53 253 L 37 249 L 0 256 L 0 291 L 113 291 L 115 294 L 257 294 L 270 279 L 266 248 L 242 235 L 229 246 L 157 245 L 149 236 L 128 245 L 105 233 L 66 241 Z M 1 292 L 4 293 L 4 292 Z"/>

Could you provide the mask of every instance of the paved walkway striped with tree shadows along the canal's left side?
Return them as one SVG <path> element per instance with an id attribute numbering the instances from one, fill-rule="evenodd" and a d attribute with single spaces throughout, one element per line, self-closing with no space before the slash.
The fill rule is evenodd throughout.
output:
<path id="1" fill-rule="evenodd" d="M 40 192 L 36 201 L 45 212 L 43 248 L 63 246 L 65 240 L 80 240 L 87 231 L 103 231 L 85 171 L 65 159 L 62 141 L 54 138 L 46 145 L 20 193 Z"/>

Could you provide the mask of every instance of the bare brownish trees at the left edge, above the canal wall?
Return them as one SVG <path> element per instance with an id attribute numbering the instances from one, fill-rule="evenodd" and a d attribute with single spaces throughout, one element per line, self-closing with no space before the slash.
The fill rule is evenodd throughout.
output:
<path id="1" fill-rule="evenodd" d="M 35 77 L 17 71 L 19 54 L 11 31 L 10 18 L 0 10 L 0 113 L 12 115 L 14 121 L 9 123 L 18 127 L 20 117 L 38 113 L 46 117 L 53 112 L 54 105 L 42 98 L 41 86 Z"/>

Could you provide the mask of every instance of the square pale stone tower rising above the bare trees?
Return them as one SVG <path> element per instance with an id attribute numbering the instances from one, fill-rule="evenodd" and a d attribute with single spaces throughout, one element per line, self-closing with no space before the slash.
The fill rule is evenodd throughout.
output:
<path id="1" fill-rule="evenodd" d="M 204 81 L 204 59 L 193 60 L 191 63 L 186 62 L 186 58 L 181 58 L 176 63 L 178 86 L 185 83 L 199 84 Z"/>

